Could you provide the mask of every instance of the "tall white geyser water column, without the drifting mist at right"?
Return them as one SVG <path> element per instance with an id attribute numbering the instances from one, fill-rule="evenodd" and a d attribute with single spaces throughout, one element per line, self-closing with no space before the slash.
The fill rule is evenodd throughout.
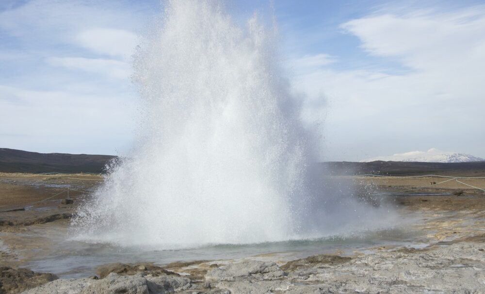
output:
<path id="1" fill-rule="evenodd" d="M 136 147 L 79 210 L 80 238 L 172 249 L 300 233 L 310 141 L 273 37 L 215 1 L 166 3 L 135 56 Z"/>

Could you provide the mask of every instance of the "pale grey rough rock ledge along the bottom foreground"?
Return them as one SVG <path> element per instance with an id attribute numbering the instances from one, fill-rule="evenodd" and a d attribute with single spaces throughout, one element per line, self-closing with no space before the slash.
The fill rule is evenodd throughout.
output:
<path id="1" fill-rule="evenodd" d="M 191 266 L 210 268 L 207 264 Z M 245 260 L 210 268 L 202 280 L 157 270 L 157 274 L 151 274 L 150 270 L 134 275 L 112 272 L 104 279 L 57 279 L 24 293 L 483 294 L 485 244 L 461 242 L 421 250 L 377 250 L 352 257 L 316 255 L 281 267 L 271 262 Z M 179 267 L 174 271 L 182 273 L 184 269 Z"/>

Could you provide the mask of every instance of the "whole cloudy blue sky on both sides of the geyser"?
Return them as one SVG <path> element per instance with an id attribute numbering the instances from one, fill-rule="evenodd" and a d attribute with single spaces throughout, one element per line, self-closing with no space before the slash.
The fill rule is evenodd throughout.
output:
<path id="1" fill-rule="evenodd" d="M 0 1 L 0 147 L 124 154 L 131 56 L 159 0 Z M 324 161 L 438 148 L 485 158 L 485 1 L 233 1 L 274 15 Z"/>

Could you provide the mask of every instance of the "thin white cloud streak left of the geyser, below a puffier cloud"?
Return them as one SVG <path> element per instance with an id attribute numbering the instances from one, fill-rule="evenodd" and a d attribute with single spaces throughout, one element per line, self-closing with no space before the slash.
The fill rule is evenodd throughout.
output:
<path id="1" fill-rule="evenodd" d="M 104 76 L 118 79 L 126 79 L 131 73 L 131 65 L 129 63 L 113 59 L 51 57 L 47 59 L 47 62 L 55 66 L 73 68 L 92 73 L 99 73 Z"/>

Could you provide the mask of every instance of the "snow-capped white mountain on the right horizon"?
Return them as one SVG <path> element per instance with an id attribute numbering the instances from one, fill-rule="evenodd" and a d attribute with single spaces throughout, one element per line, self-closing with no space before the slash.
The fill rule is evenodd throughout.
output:
<path id="1" fill-rule="evenodd" d="M 431 148 L 428 151 L 411 151 L 397 153 L 390 156 L 378 156 L 370 159 L 361 160 L 360 162 L 373 161 L 393 161 L 393 162 L 481 162 L 485 159 L 469 154 L 441 151 Z"/>

